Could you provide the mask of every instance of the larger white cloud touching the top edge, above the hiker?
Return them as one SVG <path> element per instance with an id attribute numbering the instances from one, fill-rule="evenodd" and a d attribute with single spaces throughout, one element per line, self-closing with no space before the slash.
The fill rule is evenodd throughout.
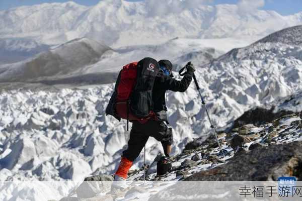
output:
<path id="1" fill-rule="evenodd" d="M 185 9 L 196 8 L 213 0 L 145 0 L 148 16 L 164 16 L 169 13 L 180 13 Z"/>

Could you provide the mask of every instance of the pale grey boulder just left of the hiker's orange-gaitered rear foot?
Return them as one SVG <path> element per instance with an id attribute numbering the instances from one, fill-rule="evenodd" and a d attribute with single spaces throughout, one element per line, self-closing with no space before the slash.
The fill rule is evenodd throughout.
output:
<path id="1" fill-rule="evenodd" d="M 77 188 L 77 195 L 82 198 L 90 198 L 99 193 L 107 192 L 111 189 L 112 181 L 113 177 L 108 175 L 87 177 Z"/>

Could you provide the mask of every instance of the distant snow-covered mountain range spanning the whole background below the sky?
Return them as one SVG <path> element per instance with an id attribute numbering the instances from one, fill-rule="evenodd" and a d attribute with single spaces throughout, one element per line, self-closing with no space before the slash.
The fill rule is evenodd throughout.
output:
<path id="1" fill-rule="evenodd" d="M 31 36 L 46 44 L 88 37 L 111 46 L 162 43 L 174 37 L 263 37 L 302 23 L 302 14 L 243 13 L 237 5 L 203 1 L 103 0 L 92 7 L 73 2 L 0 11 L 0 38 Z M 164 17 L 163 17 L 164 16 Z"/>

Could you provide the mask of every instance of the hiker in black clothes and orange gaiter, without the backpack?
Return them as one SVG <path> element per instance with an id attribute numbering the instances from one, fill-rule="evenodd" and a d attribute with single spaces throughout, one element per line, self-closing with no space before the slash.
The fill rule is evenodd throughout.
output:
<path id="1" fill-rule="evenodd" d="M 194 65 L 187 64 L 187 71 L 182 80 L 173 78 L 172 63 L 169 60 L 161 60 L 158 62 L 161 71 L 155 78 L 153 86 L 153 111 L 156 113 L 156 120 L 148 120 L 141 124 L 138 121 L 132 121 L 132 129 L 130 131 L 130 139 L 128 148 L 123 151 L 119 167 L 115 173 L 115 181 L 122 181 L 127 178 L 128 170 L 133 161 L 138 157 L 149 137 L 154 137 L 162 143 L 164 153 L 169 157 L 171 145 L 173 143 L 172 128 L 168 128 L 167 107 L 166 107 L 166 91 L 184 92 L 189 87 L 192 76 L 195 71 Z"/>

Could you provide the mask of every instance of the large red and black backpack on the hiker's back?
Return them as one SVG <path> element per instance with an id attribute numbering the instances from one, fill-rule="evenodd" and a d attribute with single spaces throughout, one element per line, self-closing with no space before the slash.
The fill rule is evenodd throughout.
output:
<path id="1" fill-rule="evenodd" d="M 145 123 L 156 119 L 153 112 L 153 85 L 160 71 L 158 62 L 144 58 L 125 65 L 115 83 L 115 90 L 106 109 L 116 119 Z"/>

